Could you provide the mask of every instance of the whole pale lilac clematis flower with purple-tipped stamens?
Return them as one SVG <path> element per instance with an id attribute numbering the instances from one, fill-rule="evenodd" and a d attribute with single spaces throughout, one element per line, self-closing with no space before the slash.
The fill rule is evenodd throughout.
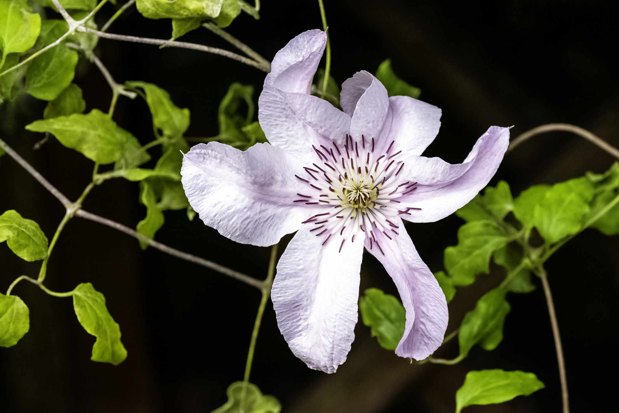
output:
<path id="1" fill-rule="evenodd" d="M 206 225 L 258 246 L 297 232 L 277 264 L 271 297 L 277 324 L 309 368 L 344 363 L 357 323 L 363 250 L 383 264 L 406 309 L 396 354 L 422 360 L 443 342 L 443 291 L 402 219 L 434 222 L 485 187 L 508 147 L 493 126 L 464 162 L 422 157 L 441 110 L 387 90 L 366 71 L 342 84 L 340 111 L 309 94 L 326 34 L 309 30 L 273 59 L 259 98 L 270 144 L 245 152 L 217 142 L 183 160 L 183 187 Z"/>

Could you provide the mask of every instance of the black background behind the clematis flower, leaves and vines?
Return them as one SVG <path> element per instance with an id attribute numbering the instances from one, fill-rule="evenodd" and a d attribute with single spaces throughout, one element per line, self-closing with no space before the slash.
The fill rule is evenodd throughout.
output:
<path id="1" fill-rule="evenodd" d="M 98 24 L 117 7 L 105 6 Z M 515 125 L 515 137 L 544 123 L 574 123 L 619 146 L 618 8 L 611 1 L 326 1 L 332 74 L 341 83 L 358 70 L 374 72 L 391 58 L 400 77 L 422 88 L 422 100 L 443 109 L 441 132 L 426 154 L 449 162 L 464 159 L 475 139 L 495 124 Z M 267 59 L 298 33 L 321 27 L 315 1 L 264 1 L 261 15 L 258 21 L 241 15 L 228 30 Z M 169 38 L 170 21 L 145 19 L 133 9 L 110 32 Z M 230 48 L 206 29 L 182 40 Z M 188 107 L 188 136 L 217 134 L 217 106 L 231 82 L 253 84 L 257 101 L 264 80 L 253 67 L 191 50 L 102 39 L 97 54 L 118 82 L 152 82 L 168 90 L 176 105 Z M 95 66 L 80 64 L 76 83 L 87 110 L 107 110 L 111 92 Z M 2 108 L 2 139 L 76 199 L 90 181 L 92 163 L 54 139 L 33 151 L 42 135 L 23 129 L 42 117 L 44 106 L 24 97 Z M 121 97 L 114 118 L 142 143 L 152 140 L 150 115 L 139 98 Z M 517 194 L 587 170 L 602 172 L 612 161 L 578 137 L 553 133 L 509 153 L 492 183 L 504 179 Z M 59 202 L 7 156 L 0 160 L 0 176 L 0 211 L 17 209 L 51 238 L 63 216 Z M 96 188 L 84 208 L 134 227 L 145 215 L 137 198 L 137 184 L 113 180 Z M 157 240 L 258 278 L 266 275 L 269 248 L 227 240 L 199 219 L 188 222 L 183 211 L 167 212 L 166 219 Z M 442 269 L 443 250 L 456 243 L 461 223 L 454 215 L 408 227 L 434 271 Z M 587 230 L 547 264 L 573 412 L 607 411 L 616 399 L 618 247 L 618 237 Z M 397 294 L 378 261 L 366 254 L 363 263 L 361 290 L 379 287 Z M 20 274 L 36 276 L 38 265 L 0 245 L 2 290 Z M 500 279 L 493 271 L 459 290 L 449 305 L 448 331 Z M 143 252 L 133 238 L 76 218 L 54 250 L 46 285 L 66 291 L 89 281 L 105 293 L 128 359 L 118 367 L 91 362 L 94 337 L 77 323 L 71 300 L 22 282 L 14 293 L 30 308 L 30 332 L 17 346 L 0 349 L 0 410 L 209 412 L 226 401 L 227 386 L 243 376 L 257 290 L 152 248 Z M 541 286 L 508 299 L 512 311 L 504 340 L 493 352 L 475 347 L 454 366 L 410 365 L 381 349 L 359 323 L 348 360 L 334 375 L 309 370 L 292 355 L 269 303 L 251 381 L 277 396 L 284 412 L 438 413 L 454 411 L 454 393 L 469 370 L 524 370 L 537 374 L 546 388 L 467 411 L 558 412 L 558 370 Z M 455 341 L 437 352 L 438 357 L 456 354 Z"/>

